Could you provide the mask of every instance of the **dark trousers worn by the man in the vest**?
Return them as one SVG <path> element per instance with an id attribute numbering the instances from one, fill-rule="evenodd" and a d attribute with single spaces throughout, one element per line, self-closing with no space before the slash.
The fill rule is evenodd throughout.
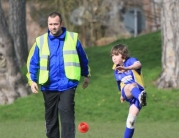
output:
<path id="1" fill-rule="evenodd" d="M 76 88 L 64 92 L 43 92 L 48 138 L 60 138 L 60 125 L 61 138 L 75 138 L 75 90 Z"/>

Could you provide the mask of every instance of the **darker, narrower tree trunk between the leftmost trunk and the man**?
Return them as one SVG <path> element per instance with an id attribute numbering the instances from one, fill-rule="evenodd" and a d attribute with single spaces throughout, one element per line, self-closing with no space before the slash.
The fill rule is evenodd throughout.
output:
<path id="1" fill-rule="evenodd" d="M 17 63 L 20 67 L 27 61 L 26 0 L 9 0 L 9 31 L 14 40 Z"/>

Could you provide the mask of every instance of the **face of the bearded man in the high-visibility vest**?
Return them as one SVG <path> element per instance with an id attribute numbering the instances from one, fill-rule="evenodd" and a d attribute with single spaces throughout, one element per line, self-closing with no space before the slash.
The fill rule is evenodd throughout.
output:
<path id="1" fill-rule="evenodd" d="M 48 17 L 48 29 L 53 36 L 59 36 L 61 34 L 61 22 L 58 16 Z"/>

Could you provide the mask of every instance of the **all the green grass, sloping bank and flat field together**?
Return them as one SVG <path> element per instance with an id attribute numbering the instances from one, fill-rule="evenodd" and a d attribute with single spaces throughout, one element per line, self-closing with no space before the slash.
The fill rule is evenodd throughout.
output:
<path id="1" fill-rule="evenodd" d="M 178 136 L 178 90 L 157 89 L 155 85 L 161 72 L 161 34 L 154 32 L 137 38 L 121 39 L 103 47 L 85 49 L 92 77 L 87 89 L 81 88 L 83 78 L 77 88 L 75 116 L 76 124 L 86 121 L 90 130 L 86 134 L 77 131 L 76 137 L 117 138 L 123 135 L 129 105 L 119 101 L 109 54 L 111 47 L 118 43 L 127 44 L 131 56 L 142 62 L 148 92 L 148 103 L 137 118 L 134 138 Z M 42 94 L 39 93 L 19 98 L 11 105 L 0 106 L 0 137 L 45 137 L 43 104 Z"/>

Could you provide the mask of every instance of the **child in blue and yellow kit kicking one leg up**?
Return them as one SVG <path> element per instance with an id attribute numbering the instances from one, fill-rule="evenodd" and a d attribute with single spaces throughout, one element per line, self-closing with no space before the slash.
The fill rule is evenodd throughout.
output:
<path id="1" fill-rule="evenodd" d="M 130 104 L 124 138 L 132 138 L 137 115 L 146 106 L 142 65 L 139 60 L 129 56 L 128 48 L 123 44 L 114 46 L 110 54 L 114 63 L 114 76 L 121 92 L 121 103 L 127 101 Z"/>

